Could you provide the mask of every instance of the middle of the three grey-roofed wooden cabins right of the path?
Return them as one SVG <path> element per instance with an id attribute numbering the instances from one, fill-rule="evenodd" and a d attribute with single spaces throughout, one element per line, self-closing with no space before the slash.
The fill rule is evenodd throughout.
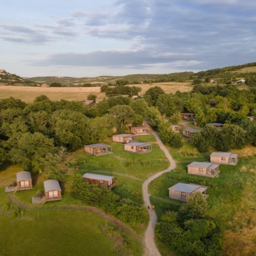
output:
<path id="1" fill-rule="evenodd" d="M 188 167 L 189 174 L 202 175 L 207 177 L 218 177 L 219 176 L 220 164 L 205 163 L 205 162 L 193 162 Z"/>

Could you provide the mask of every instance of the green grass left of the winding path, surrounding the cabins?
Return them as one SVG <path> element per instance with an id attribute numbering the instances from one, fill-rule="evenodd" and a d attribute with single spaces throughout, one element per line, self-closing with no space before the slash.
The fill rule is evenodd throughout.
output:
<path id="1" fill-rule="evenodd" d="M 155 142 L 153 135 L 141 135 L 138 139 Z M 60 201 L 31 203 L 31 197 L 44 194 L 47 172 L 33 176 L 33 189 L 15 194 L 4 193 L 4 187 L 15 181 L 22 166 L 12 165 L 0 172 L 0 255 L 17 252 L 19 255 L 142 255 L 146 226 L 129 224 L 127 229 L 133 231 L 127 233 L 110 220 L 86 211 L 83 207 L 86 204 L 73 198 L 75 165 L 78 163 L 81 175 L 85 172 L 114 175 L 118 181 L 114 193 L 143 204 L 143 180 L 166 169 L 169 162 L 155 144 L 153 152 L 138 155 L 125 152 L 122 143 L 111 142 L 110 138 L 105 142 L 113 146 L 113 155 L 92 156 L 84 153 L 84 149 L 70 153 L 71 164 L 65 182 L 61 183 Z"/>

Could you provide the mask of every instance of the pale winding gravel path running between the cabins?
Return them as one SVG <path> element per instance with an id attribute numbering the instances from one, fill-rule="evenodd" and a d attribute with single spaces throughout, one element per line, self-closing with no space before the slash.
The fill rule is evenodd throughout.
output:
<path id="1" fill-rule="evenodd" d="M 146 126 L 149 127 L 149 124 L 146 123 Z M 170 162 L 170 166 L 161 172 L 158 172 L 156 174 L 154 174 L 153 176 L 149 177 L 147 180 L 145 180 L 143 182 L 142 185 L 142 194 L 143 194 L 143 199 L 145 202 L 146 206 L 150 206 L 150 210 L 149 210 L 149 223 L 148 223 L 148 228 L 146 230 L 145 233 L 145 237 L 144 237 L 144 243 L 146 246 L 146 254 L 150 255 L 150 256 L 161 256 L 161 254 L 159 253 L 155 241 L 154 241 L 154 236 L 155 236 L 155 226 L 156 226 L 156 213 L 155 211 L 151 211 L 151 204 L 150 204 L 150 200 L 149 200 L 149 193 L 148 193 L 148 185 L 151 181 L 153 181 L 154 179 L 156 179 L 157 177 L 161 176 L 163 173 L 165 172 L 170 172 L 173 169 L 176 168 L 176 163 L 173 160 L 172 156 L 170 155 L 169 151 L 166 149 L 166 147 L 164 146 L 163 142 L 161 141 L 161 139 L 159 138 L 159 136 L 153 131 L 151 130 L 151 133 L 155 136 L 157 144 L 159 146 L 159 148 L 161 148 L 164 151 L 165 156 L 167 157 L 167 159 Z"/>

